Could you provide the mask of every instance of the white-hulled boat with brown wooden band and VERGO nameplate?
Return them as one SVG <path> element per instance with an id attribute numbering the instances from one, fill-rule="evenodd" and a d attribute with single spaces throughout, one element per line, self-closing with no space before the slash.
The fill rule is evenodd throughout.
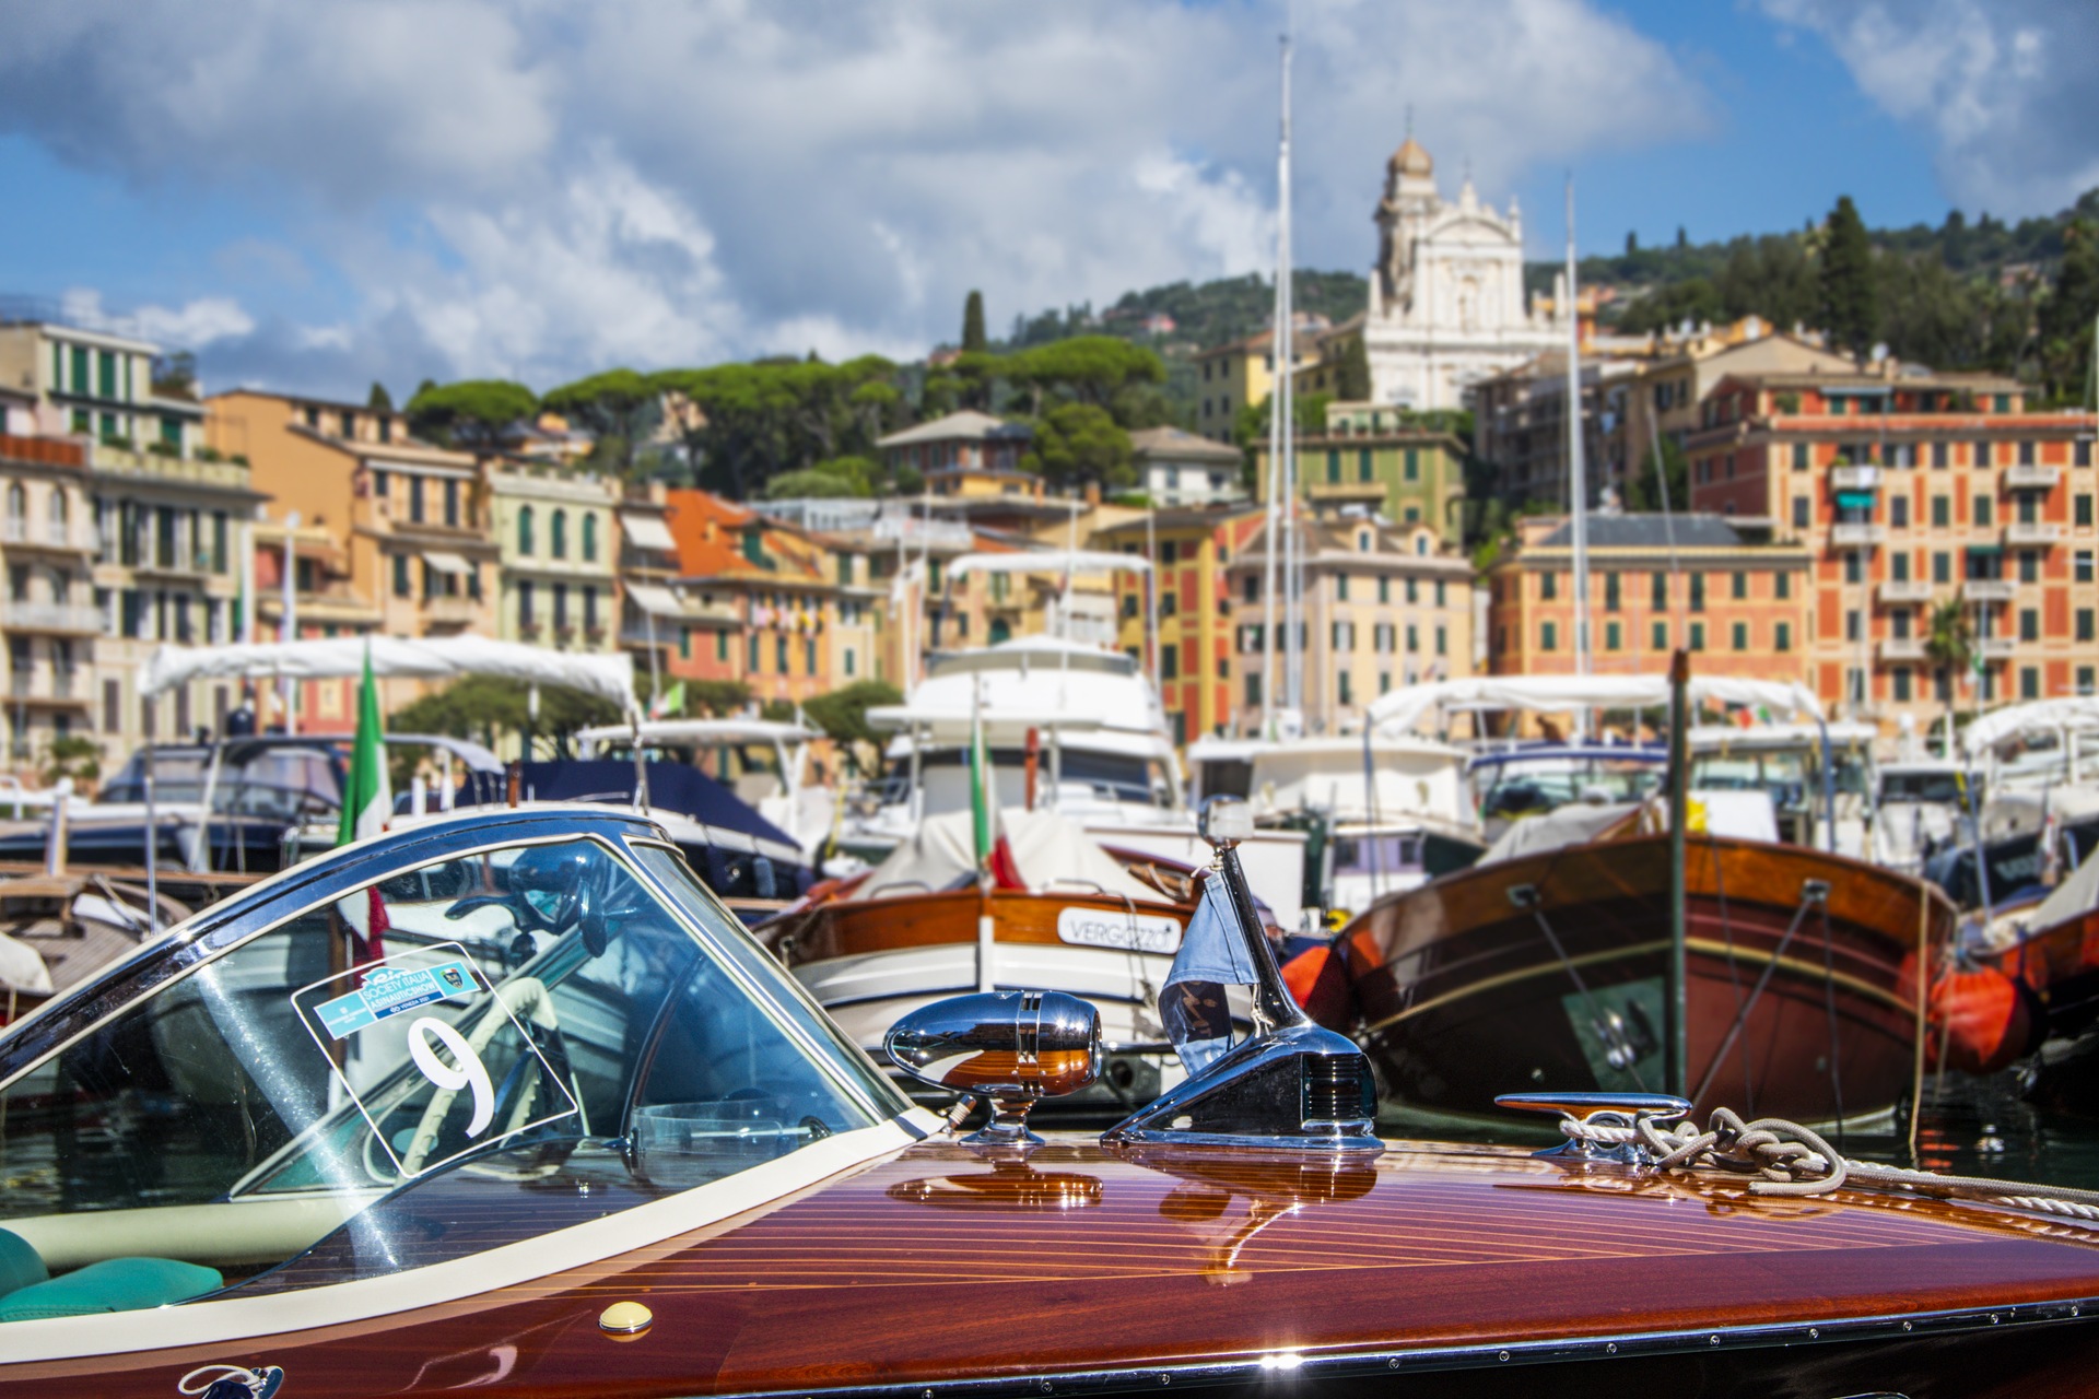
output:
<path id="1" fill-rule="evenodd" d="M 1110 856 L 1054 812 L 1005 812 L 1024 887 L 976 877 L 970 814 L 932 816 L 873 870 L 821 889 L 758 927 L 854 1042 L 963 990 L 1037 986 L 1100 1009 L 1106 1068 L 1075 1099 L 1136 1105 L 1180 1078 L 1159 990 L 1192 889 L 1138 852 Z"/>

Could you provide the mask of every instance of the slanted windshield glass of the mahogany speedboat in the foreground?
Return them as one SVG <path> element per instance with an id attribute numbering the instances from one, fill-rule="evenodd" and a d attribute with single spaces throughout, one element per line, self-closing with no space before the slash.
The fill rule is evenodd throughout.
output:
<path id="1" fill-rule="evenodd" d="M 535 1237 L 903 1110 L 676 854 L 646 858 L 676 894 L 598 841 L 518 845 L 222 952 L 6 1089 L 0 1225 L 52 1273 L 166 1254 L 290 1290 Z"/>

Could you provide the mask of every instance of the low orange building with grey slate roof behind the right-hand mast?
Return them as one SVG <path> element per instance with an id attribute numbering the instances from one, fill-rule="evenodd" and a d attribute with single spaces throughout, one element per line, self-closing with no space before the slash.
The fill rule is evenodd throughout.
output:
<path id="1" fill-rule="evenodd" d="M 1675 648 L 1702 675 L 1805 680 L 1814 556 L 1759 543 L 1715 514 L 1589 518 L 1589 665 L 1660 675 Z M 1532 516 L 1486 573 L 1488 671 L 1572 675 L 1574 545 L 1566 516 Z"/>

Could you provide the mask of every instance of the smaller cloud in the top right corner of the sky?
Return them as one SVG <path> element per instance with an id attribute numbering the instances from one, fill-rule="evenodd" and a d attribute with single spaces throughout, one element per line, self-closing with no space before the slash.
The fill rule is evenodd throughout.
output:
<path id="1" fill-rule="evenodd" d="M 2053 214 L 2099 185 L 2089 0 L 1761 0 L 1822 36 L 1889 115 L 1931 132 L 1954 201 Z"/>

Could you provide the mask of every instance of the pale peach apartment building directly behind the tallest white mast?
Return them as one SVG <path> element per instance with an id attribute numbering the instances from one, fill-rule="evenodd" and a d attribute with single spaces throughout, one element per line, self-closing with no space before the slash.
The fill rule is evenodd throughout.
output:
<path id="1" fill-rule="evenodd" d="M 1360 730 L 1379 694 L 1473 673 L 1471 564 L 1423 522 L 1375 514 L 1299 520 L 1303 602 L 1297 633 L 1306 732 Z M 1257 734 L 1268 675 L 1261 602 L 1268 535 L 1255 526 L 1226 571 L 1238 684 L 1234 728 Z M 1280 583 L 1278 583 L 1280 587 Z M 1278 617 L 1278 627 L 1282 625 Z M 1272 707 L 1289 705 L 1289 636 L 1276 638 Z"/>

